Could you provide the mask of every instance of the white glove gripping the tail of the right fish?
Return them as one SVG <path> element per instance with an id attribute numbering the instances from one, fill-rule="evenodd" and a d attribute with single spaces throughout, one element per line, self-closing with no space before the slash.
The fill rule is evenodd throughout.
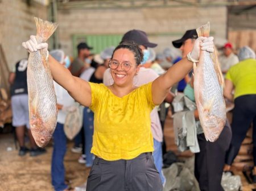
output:
<path id="1" fill-rule="evenodd" d="M 196 39 L 194 47 L 190 53 L 191 59 L 199 60 L 200 47 L 202 51 L 214 52 L 213 37 L 200 36 Z"/>

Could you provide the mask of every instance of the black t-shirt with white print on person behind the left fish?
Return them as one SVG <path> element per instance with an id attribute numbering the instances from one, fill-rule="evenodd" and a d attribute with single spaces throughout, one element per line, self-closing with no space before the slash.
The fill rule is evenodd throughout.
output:
<path id="1" fill-rule="evenodd" d="M 28 94 L 27 92 L 27 59 L 22 59 L 15 65 L 15 80 L 11 85 L 11 96 Z"/>

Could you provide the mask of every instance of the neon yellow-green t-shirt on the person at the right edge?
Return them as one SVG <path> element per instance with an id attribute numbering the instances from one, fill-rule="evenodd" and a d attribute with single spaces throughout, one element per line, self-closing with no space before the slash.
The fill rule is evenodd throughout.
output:
<path id="1" fill-rule="evenodd" d="M 235 86 L 234 98 L 256 94 L 256 60 L 247 59 L 234 65 L 228 70 L 225 78 Z"/>

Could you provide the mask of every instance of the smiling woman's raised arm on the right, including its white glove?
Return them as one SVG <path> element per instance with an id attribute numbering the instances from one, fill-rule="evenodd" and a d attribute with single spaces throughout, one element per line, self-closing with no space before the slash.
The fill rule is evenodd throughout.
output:
<path id="1" fill-rule="evenodd" d="M 202 37 L 196 39 L 194 47 L 189 52 L 189 60 L 199 60 L 200 49 L 208 52 L 214 51 L 213 37 Z M 193 62 L 188 58 L 180 60 L 167 70 L 162 76 L 156 78 L 152 83 L 152 99 L 155 105 L 163 102 L 171 87 L 179 82 L 182 78 L 189 73 L 193 67 Z"/>

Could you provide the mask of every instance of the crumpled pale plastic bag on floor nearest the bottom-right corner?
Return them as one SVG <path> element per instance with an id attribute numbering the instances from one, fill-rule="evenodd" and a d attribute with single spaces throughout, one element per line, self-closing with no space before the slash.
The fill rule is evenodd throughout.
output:
<path id="1" fill-rule="evenodd" d="M 225 191 L 238 191 L 242 186 L 241 178 L 238 175 L 232 175 L 230 172 L 224 172 L 221 178 L 221 186 Z"/>

